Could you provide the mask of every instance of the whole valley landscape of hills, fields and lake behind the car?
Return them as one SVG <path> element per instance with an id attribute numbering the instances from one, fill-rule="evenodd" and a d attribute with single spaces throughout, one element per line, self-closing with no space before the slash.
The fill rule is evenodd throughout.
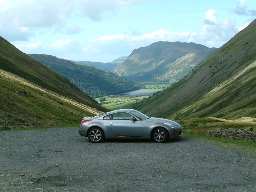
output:
<path id="1" fill-rule="evenodd" d="M 255 33 L 254 20 L 218 49 L 156 42 L 110 63 L 76 64 L 24 54 L 1 38 L 0 126 L 5 117 L 9 127 L 68 126 L 83 116 L 134 108 L 200 136 L 217 127 L 255 132 Z"/>

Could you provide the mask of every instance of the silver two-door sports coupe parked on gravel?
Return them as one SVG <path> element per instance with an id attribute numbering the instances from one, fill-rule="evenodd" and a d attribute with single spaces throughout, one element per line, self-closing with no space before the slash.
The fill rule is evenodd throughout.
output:
<path id="1" fill-rule="evenodd" d="M 120 109 L 93 117 L 84 117 L 80 136 L 93 143 L 104 139 L 141 138 L 163 143 L 181 137 L 182 126 L 168 119 L 148 117 L 134 109 Z"/>

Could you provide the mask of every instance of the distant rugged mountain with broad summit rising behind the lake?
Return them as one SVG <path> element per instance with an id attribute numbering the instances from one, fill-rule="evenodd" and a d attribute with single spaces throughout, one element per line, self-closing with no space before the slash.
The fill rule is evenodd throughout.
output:
<path id="1" fill-rule="evenodd" d="M 111 71 L 136 81 L 174 82 L 216 50 L 195 43 L 160 41 L 133 50 L 124 62 Z"/>

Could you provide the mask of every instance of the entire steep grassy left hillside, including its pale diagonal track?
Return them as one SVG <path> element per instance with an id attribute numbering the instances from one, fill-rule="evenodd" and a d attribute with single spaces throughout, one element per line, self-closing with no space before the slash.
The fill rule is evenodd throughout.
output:
<path id="1" fill-rule="evenodd" d="M 0 129 L 32 124 L 78 124 L 83 116 L 108 111 L 50 68 L 0 37 Z M 38 122 L 39 126 L 39 122 Z"/>

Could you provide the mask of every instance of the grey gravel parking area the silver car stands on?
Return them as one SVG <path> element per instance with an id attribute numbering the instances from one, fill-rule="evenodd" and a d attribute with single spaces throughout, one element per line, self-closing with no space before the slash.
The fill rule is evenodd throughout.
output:
<path id="1" fill-rule="evenodd" d="M 78 128 L 0 132 L 0 191 L 256 191 L 256 159 L 182 137 L 93 144 Z"/>

